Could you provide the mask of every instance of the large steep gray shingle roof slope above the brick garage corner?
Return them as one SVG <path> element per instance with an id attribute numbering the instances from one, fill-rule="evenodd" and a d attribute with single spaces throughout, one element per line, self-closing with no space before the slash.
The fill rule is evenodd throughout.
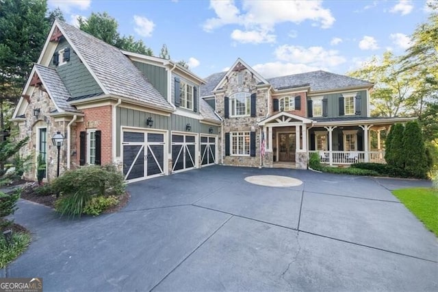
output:
<path id="1" fill-rule="evenodd" d="M 110 94 L 143 101 L 165 110 L 173 110 L 168 101 L 120 49 L 72 25 L 62 21 L 57 23 Z"/>

